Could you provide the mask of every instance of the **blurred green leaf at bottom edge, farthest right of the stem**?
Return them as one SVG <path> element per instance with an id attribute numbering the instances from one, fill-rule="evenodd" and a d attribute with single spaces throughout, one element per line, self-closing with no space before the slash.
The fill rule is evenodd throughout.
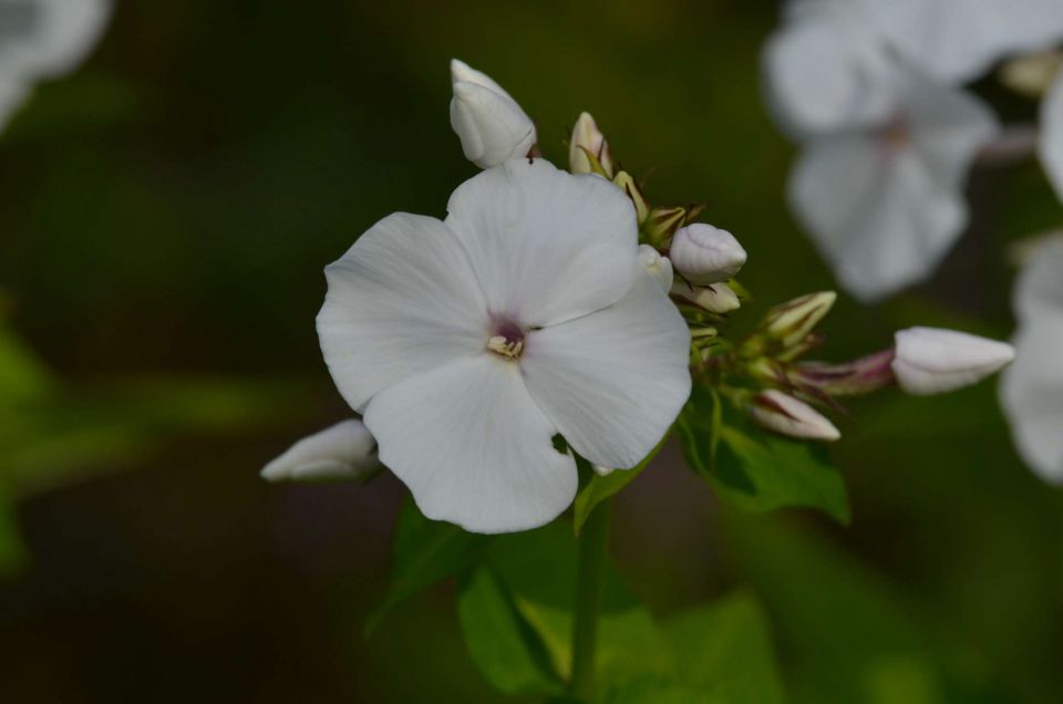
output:
<path id="1" fill-rule="evenodd" d="M 737 592 L 693 608 L 663 628 L 684 684 L 733 704 L 785 701 L 767 617 L 752 596 Z"/>

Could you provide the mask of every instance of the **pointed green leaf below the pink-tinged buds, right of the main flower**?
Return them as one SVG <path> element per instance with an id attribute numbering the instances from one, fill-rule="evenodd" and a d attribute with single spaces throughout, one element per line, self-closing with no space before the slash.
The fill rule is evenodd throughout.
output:
<path id="1" fill-rule="evenodd" d="M 801 443 L 724 418 L 712 393 L 695 389 L 679 421 L 690 466 L 720 498 L 746 511 L 817 508 L 849 521 L 845 482 L 822 444 Z"/>

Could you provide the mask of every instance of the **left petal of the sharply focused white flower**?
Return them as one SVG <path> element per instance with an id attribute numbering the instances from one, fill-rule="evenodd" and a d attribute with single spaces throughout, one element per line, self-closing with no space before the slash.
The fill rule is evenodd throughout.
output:
<path id="1" fill-rule="evenodd" d="M 321 351 L 354 410 L 406 376 L 484 350 L 483 293 L 454 232 L 435 218 L 390 215 L 324 273 Z"/>

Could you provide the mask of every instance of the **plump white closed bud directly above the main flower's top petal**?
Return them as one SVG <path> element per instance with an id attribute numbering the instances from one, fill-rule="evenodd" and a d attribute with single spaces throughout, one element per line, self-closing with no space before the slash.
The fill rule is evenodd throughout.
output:
<path id="1" fill-rule="evenodd" d="M 491 76 L 457 59 L 451 60 L 451 126 L 465 157 L 491 168 L 527 156 L 536 143 L 535 125 L 520 105 Z"/>

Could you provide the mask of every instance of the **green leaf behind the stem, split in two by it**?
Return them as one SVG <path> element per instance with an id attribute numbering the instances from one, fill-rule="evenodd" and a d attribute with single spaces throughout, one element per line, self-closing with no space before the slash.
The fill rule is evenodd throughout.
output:
<path id="1" fill-rule="evenodd" d="M 499 537 L 488 562 L 508 589 L 522 618 L 545 645 L 553 670 L 571 672 L 572 601 L 576 592 L 576 540 L 560 521 Z M 606 565 L 598 621 L 596 673 L 605 686 L 632 677 L 671 675 L 674 667 L 663 635 L 650 613 Z"/>

